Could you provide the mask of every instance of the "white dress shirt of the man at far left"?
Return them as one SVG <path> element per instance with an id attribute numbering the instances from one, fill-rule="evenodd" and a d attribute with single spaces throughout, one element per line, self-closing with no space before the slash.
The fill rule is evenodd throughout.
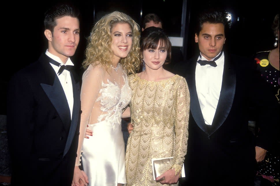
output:
<path id="1" fill-rule="evenodd" d="M 48 52 L 48 50 L 46 50 L 46 55 L 50 58 L 52 58 L 53 60 L 55 60 L 56 62 L 59 62 L 62 65 L 72 65 L 74 66 L 74 64 L 72 63 L 72 61 L 70 60 L 70 58 L 68 58 L 68 60 L 66 61 L 66 63 L 64 64 L 61 59 L 51 53 Z M 51 64 L 51 63 L 50 63 Z M 58 75 L 57 72 L 60 68 L 60 66 L 56 66 L 54 64 L 51 64 L 51 66 L 53 67 L 53 70 L 55 70 L 55 73 L 62 85 L 62 88 L 64 90 L 64 92 L 61 92 L 61 94 L 65 93 L 66 95 L 66 99 L 68 102 L 68 106 L 70 109 L 70 113 L 71 113 L 71 119 L 72 119 L 72 111 L 73 111 L 73 104 L 74 104 L 74 98 L 73 98 L 73 87 L 72 87 L 72 79 L 71 79 L 71 75 L 70 72 L 68 70 L 63 70 L 63 72 Z"/>

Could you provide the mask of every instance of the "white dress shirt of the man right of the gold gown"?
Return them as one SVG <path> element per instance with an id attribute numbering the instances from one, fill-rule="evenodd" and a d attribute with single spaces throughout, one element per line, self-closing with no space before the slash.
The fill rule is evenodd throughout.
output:
<path id="1" fill-rule="evenodd" d="M 207 60 L 202 55 L 201 57 L 199 56 L 197 60 L 200 59 Z M 216 67 L 210 65 L 201 66 L 199 63 L 196 64 L 196 91 L 204 122 L 207 125 L 212 125 L 218 105 L 223 80 L 224 60 L 225 57 L 224 54 L 222 54 L 221 57 L 215 61 L 217 64 Z"/>

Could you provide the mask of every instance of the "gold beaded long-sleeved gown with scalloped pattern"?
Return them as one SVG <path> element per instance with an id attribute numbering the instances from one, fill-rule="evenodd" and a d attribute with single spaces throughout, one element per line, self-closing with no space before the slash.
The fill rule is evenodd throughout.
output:
<path id="1" fill-rule="evenodd" d="M 174 157 L 170 168 L 182 170 L 188 140 L 190 95 L 179 75 L 158 82 L 128 76 L 133 130 L 126 147 L 126 186 L 156 186 L 152 158 Z M 177 184 L 173 184 L 178 185 Z"/>

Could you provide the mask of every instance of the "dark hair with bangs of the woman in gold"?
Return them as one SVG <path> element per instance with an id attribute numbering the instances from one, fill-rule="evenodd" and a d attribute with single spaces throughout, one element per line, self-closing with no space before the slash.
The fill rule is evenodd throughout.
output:
<path id="1" fill-rule="evenodd" d="M 169 64 L 171 60 L 171 42 L 162 28 L 150 26 L 141 33 L 140 53 L 143 54 L 144 50 L 157 49 L 158 47 L 165 48 L 167 51 L 164 64 Z"/>

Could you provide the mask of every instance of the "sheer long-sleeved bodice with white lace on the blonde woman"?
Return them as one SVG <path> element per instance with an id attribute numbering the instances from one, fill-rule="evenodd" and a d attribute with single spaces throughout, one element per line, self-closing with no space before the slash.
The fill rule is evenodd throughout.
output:
<path id="1" fill-rule="evenodd" d="M 116 125 L 121 124 L 122 110 L 128 105 L 131 99 L 131 89 L 128 85 L 126 72 L 122 65 L 115 71 L 109 69 L 110 74 L 100 65 L 89 65 L 84 72 L 81 88 L 81 126 L 78 146 L 79 159 L 85 130 L 87 125 L 106 121 Z"/>

